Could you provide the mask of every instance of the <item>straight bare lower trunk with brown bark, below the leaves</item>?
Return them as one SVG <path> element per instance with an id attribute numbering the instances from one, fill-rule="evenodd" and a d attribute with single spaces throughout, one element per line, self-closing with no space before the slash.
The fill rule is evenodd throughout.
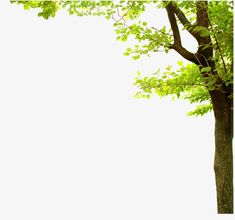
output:
<path id="1" fill-rule="evenodd" d="M 215 115 L 214 171 L 219 214 L 233 213 L 233 103 L 228 93 L 210 92 Z"/>

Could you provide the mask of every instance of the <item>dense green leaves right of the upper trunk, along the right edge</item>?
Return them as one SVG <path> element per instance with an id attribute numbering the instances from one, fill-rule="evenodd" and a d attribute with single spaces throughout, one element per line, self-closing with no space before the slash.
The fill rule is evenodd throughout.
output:
<path id="1" fill-rule="evenodd" d="M 216 68 L 228 86 L 233 84 L 233 2 L 212 1 L 209 16 Z"/>

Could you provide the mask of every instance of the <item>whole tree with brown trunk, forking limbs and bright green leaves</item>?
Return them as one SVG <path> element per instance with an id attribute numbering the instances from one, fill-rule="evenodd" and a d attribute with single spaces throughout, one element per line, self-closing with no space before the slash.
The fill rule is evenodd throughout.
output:
<path id="1" fill-rule="evenodd" d="M 218 213 L 233 213 L 233 2 L 228 1 L 12 1 L 25 9 L 40 8 L 38 16 L 54 17 L 60 8 L 77 16 L 104 16 L 114 21 L 117 40 L 136 39 L 124 55 L 139 59 L 160 50 L 175 50 L 190 61 L 173 71 L 142 77 L 137 74 L 136 97 L 172 95 L 200 103 L 189 115 L 213 110 L 215 117 L 214 171 Z M 157 29 L 141 19 L 148 7 L 164 9 L 170 29 Z M 157 13 L 157 10 L 156 10 Z M 197 41 L 195 53 L 184 48 L 186 30 Z"/>

